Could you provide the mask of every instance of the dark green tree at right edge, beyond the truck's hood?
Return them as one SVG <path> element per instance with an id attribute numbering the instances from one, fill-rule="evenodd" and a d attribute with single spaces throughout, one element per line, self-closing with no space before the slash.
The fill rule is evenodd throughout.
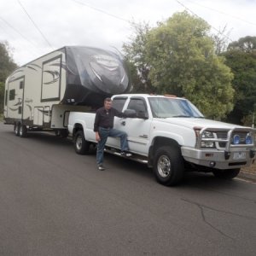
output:
<path id="1" fill-rule="evenodd" d="M 236 124 L 252 124 L 256 111 L 256 37 L 240 38 L 224 53 L 226 65 L 234 73 L 235 107 L 227 120 Z"/>

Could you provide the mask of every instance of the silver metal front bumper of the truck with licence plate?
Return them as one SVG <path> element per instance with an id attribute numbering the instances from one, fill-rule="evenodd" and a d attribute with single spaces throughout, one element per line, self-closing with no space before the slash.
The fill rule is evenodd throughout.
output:
<path id="1" fill-rule="evenodd" d="M 182 147 L 184 160 L 199 166 L 234 169 L 250 166 L 255 159 L 253 148 L 232 148 L 231 151 Z"/>

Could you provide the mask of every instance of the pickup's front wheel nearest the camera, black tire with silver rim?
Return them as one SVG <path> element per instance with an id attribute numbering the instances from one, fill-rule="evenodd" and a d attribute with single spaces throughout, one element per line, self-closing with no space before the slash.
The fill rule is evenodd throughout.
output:
<path id="1" fill-rule="evenodd" d="M 154 157 L 154 176 L 166 186 L 180 183 L 184 174 L 184 161 L 178 146 L 158 148 Z"/>

